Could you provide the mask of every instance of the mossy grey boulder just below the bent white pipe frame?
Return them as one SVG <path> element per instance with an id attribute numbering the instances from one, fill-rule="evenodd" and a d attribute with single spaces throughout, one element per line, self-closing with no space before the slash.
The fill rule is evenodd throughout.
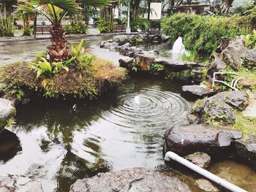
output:
<path id="1" fill-rule="evenodd" d="M 226 91 L 197 101 L 188 115 L 190 123 L 233 124 L 233 109 L 245 110 L 249 105 L 249 95 L 242 91 Z"/>

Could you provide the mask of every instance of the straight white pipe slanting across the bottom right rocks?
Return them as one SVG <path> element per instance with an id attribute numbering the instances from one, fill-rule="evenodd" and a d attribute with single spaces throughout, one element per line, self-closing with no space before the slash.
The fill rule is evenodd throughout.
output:
<path id="1" fill-rule="evenodd" d="M 206 171 L 206 169 L 200 168 L 200 166 L 197 166 L 195 164 L 192 164 L 191 162 L 187 161 L 184 158 L 181 158 L 179 155 L 173 152 L 167 152 L 165 154 L 165 161 L 170 161 L 172 159 L 173 161 L 177 161 L 178 163 L 187 166 L 189 169 L 192 169 L 193 171 L 197 172 L 198 174 L 203 175 L 204 177 L 208 178 L 209 180 L 212 180 L 214 183 L 217 183 L 221 185 L 222 187 L 233 191 L 233 192 L 248 192 L 245 191 L 242 188 L 239 188 L 236 185 L 233 185 L 232 183 L 227 182 L 226 180 L 223 180 L 222 178 L 218 177 L 215 174 L 212 174 L 211 172 Z"/>

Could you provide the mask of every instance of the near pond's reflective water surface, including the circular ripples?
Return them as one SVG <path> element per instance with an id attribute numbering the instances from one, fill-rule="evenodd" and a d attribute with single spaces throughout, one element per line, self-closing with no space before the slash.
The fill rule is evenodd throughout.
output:
<path id="1" fill-rule="evenodd" d="M 68 191 L 78 178 L 98 172 L 154 169 L 163 164 L 165 130 L 187 123 L 189 103 L 180 89 L 177 83 L 129 80 L 96 101 L 39 99 L 20 106 L 12 131 L 23 150 L 1 163 L 0 172 L 26 174 L 45 191 Z"/>

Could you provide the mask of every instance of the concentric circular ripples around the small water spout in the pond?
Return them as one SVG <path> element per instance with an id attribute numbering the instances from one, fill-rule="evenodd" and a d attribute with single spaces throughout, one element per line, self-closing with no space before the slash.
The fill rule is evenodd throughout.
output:
<path id="1" fill-rule="evenodd" d="M 151 133 L 157 133 L 183 123 L 188 110 L 187 101 L 176 93 L 159 86 L 135 91 L 135 85 L 129 85 L 118 89 L 118 106 L 110 108 L 102 118 L 133 131 L 150 128 Z"/>

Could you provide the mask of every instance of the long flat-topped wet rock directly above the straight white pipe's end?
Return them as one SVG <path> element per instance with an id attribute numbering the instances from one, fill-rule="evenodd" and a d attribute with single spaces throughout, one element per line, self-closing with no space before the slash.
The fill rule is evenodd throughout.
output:
<path id="1" fill-rule="evenodd" d="M 173 151 L 180 155 L 226 152 L 231 149 L 231 142 L 240 139 L 242 135 L 241 131 L 234 129 L 203 124 L 175 126 L 165 132 L 165 152 Z"/>

